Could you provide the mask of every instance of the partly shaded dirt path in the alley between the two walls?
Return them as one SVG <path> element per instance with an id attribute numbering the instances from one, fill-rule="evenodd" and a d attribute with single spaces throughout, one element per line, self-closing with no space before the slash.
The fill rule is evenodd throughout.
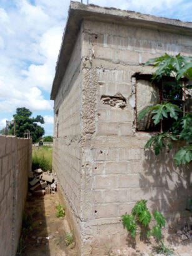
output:
<path id="1" fill-rule="evenodd" d="M 26 212 L 32 215 L 32 230 L 21 240 L 23 256 L 75 256 L 75 241 L 65 245 L 69 226 L 65 217 L 56 217 L 59 195 L 31 196 L 27 199 Z"/>

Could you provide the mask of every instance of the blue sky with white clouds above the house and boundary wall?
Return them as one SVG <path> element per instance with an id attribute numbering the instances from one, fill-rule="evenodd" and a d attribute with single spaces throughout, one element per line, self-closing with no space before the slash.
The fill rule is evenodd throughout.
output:
<path id="1" fill-rule="evenodd" d="M 191 0 L 89 3 L 192 21 Z M 44 116 L 45 135 L 53 134 L 50 89 L 69 4 L 69 0 L 0 0 L 0 129 L 17 107 L 27 107 L 33 116 Z"/>

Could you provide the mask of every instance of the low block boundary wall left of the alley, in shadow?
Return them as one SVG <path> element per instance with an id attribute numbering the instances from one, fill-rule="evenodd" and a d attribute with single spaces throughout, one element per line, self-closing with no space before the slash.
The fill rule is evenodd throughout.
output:
<path id="1" fill-rule="evenodd" d="M 31 170 L 32 140 L 0 135 L 0 254 L 16 255 Z"/>

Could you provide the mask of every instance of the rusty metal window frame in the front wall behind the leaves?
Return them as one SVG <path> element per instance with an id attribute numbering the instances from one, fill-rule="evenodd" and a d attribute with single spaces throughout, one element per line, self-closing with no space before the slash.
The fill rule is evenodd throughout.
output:
<path id="1" fill-rule="evenodd" d="M 147 133 L 147 134 L 162 134 L 163 133 L 163 124 L 162 124 L 162 120 L 160 120 L 160 131 L 148 131 L 148 130 L 137 130 L 137 123 L 138 123 L 138 112 L 137 112 L 137 81 L 138 80 L 145 80 L 148 82 L 151 82 L 151 77 L 152 75 L 139 75 L 136 76 L 135 79 L 135 116 L 136 116 L 136 129 L 135 132 L 137 133 Z M 175 82 L 175 77 L 162 77 L 162 79 L 159 82 L 159 94 L 160 94 L 160 102 L 159 104 L 161 104 L 161 102 L 163 101 L 168 101 L 168 102 L 183 102 L 183 112 L 185 112 L 185 102 L 186 102 L 186 93 L 185 93 L 185 86 L 186 86 L 186 81 L 187 79 L 180 79 L 180 81 L 182 82 L 182 91 L 183 91 L 183 99 L 164 99 L 163 98 L 163 82 Z"/>

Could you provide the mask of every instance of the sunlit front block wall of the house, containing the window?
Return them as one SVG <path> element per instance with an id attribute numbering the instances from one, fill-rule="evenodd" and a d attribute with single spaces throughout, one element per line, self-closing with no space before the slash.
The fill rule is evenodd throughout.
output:
<path id="1" fill-rule="evenodd" d="M 184 214 L 192 195 L 191 165 L 175 167 L 173 155 L 178 145 L 158 157 L 144 151 L 150 134 L 135 130 L 136 81 L 132 76 L 136 72 L 151 74 L 151 67 L 141 64 L 165 52 L 191 55 L 191 39 L 158 29 L 84 21 L 84 52 L 87 56 L 94 52 L 94 56 L 91 63 L 83 56 L 83 86 L 95 89 L 92 101 L 96 111 L 92 118 L 94 134 L 83 146 L 89 152 L 82 162 L 91 180 L 87 202 L 94 202 L 84 229 L 85 248 L 90 243 L 90 230 L 92 242 L 83 255 L 100 255 L 106 242 L 116 248 L 127 244 L 120 216 L 130 212 L 137 200 L 148 200 L 150 210 L 160 210 L 170 223 Z M 89 85 L 87 76 L 92 76 Z M 102 103 L 103 95 L 117 92 L 126 98 L 125 108 Z"/>

